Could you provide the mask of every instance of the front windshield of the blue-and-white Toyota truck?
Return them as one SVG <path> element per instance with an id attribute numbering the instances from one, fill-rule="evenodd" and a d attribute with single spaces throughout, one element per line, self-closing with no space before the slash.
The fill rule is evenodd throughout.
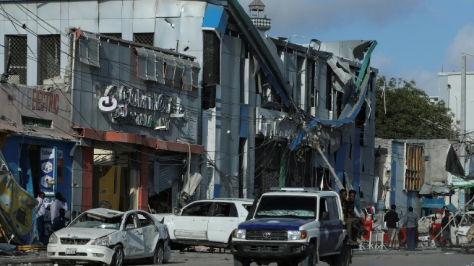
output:
<path id="1" fill-rule="evenodd" d="M 260 200 L 255 218 L 316 219 L 316 197 L 265 196 Z"/>

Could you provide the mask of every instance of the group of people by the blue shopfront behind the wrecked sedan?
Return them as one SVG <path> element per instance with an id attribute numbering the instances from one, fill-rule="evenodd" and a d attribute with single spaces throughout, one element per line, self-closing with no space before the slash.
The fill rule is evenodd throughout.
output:
<path id="1" fill-rule="evenodd" d="M 38 227 L 38 240 L 39 242 L 46 243 L 45 239 L 45 224 L 47 220 L 45 219 L 46 214 L 46 203 L 44 202 L 46 195 L 44 192 L 38 194 L 38 204 L 35 206 L 34 210 L 36 211 L 36 224 Z M 69 221 L 65 217 L 67 212 L 67 203 L 66 200 L 62 197 L 61 193 L 56 193 L 54 195 L 55 200 L 49 206 L 51 214 L 51 229 L 57 231 L 66 226 L 66 222 Z"/>

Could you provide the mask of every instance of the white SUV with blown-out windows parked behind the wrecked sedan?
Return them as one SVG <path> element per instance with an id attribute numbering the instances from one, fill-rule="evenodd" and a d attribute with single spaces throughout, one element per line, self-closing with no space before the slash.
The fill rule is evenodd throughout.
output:
<path id="1" fill-rule="evenodd" d="M 173 214 L 156 214 L 155 217 L 168 226 L 175 246 L 226 248 L 232 231 L 245 221 L 252 203 L 250 199 L 201 200 L 183 209 L 175 208 Z"/>

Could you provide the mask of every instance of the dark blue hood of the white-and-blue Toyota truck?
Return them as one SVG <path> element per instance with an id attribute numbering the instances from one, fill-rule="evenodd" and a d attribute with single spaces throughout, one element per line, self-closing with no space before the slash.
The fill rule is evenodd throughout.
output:
<path id="1" fill-rule="evenodd" d="M 286 229 L 299 230 L 302 225 L 314 222 L 314 220 L 306 219 L 289 219 L 289 218 L 257 218 L 252 219 L 238 225 L 239 229 Z"/>

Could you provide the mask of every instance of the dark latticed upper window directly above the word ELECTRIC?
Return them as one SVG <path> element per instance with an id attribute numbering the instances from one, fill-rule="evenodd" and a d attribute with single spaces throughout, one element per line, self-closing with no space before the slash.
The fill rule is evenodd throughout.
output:
<path id="1" fill-rule="evenodd" d="M 38 84 L 43 80 L 61 75 L 61 36 L 38 36 Z"/>

